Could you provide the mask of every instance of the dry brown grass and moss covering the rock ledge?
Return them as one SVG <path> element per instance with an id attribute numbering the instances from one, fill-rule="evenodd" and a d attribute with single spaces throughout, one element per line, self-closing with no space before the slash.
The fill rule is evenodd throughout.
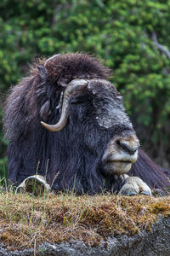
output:
<path id="1" fill-rule="evenodd" d="M 159 214 L 170 215 L 170 196 L 0 194 L 0 241 L 10 249 L 71 238 L 96 246 L 107 236 L 150 231 Z"/>

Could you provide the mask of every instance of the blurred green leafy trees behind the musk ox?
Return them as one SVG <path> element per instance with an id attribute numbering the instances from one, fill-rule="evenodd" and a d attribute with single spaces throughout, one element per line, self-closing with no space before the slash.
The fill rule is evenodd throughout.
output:
<path id="1" fill-rule="evenodd" d="M 3 102 L 40 56 L 83 51 L 113 70 L 142 147 L 170 163 L 170 0 L 0 1 L 0 175 Z"/>

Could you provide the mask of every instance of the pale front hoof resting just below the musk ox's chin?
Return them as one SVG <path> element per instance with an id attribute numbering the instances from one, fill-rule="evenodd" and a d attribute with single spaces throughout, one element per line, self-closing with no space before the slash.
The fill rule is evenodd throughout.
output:
<path id="1" fill-rule="evenodd" d="M 122 175 L 124 185 L 119 191 L 119 195 L 150 195 L 150 187 L 139 177 L 129 177 L 127 174 Z"/>

